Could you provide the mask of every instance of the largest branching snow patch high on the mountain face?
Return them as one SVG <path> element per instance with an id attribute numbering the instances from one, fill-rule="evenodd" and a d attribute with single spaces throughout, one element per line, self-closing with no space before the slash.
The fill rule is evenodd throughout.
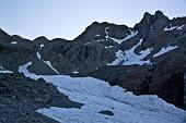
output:
<path id="1" fill-rule="evenodd" d="M 116 52 L 116 60 L 112 63 L 107 63 L 107 65 L 132 65 L 132 64 L 150 64 L 150 60 L 144 61 L 143 58 L 146 58 L 148 54 L 151 53 L 152 49 L 148 48 L 147 50 L 140 51 L 140 54 L 135 53 L 135 49 L 140 46 L 142 42 L 142 39 L 133 46 L 130 50 L 126 50 L 125 52 L 121 50 L 118 50 Z"/>

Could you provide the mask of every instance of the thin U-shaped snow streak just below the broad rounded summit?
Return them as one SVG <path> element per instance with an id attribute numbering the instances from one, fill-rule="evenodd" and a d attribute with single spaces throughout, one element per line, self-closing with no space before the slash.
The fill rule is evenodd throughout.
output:
<path id="1" fill-rule="evenodd" d="M 109 39 L 114 40 L 115 42 L 117 42 L 117 44 L 119 44 L 119 45 L 120 45 L 121 42 L 124 42 L 125 40 L 128 40 L 128 39 L 135 37 L 135 36 L 138 34 L 138 30 L 137 30 L 137 32 L 133 32 L 133 30 L 129 29 L 129 30 L 130 30 L 130 35 L 127 35 L 127 37 L 124 38 L 124 39 L 117 39 L 117 38 L 109 37 L 108 32 L 107 32 L 108 28 L 109 28 L 109 27 L 106 27 L 106 28 L 105 28 L 105 34 L 106 34 L 105 38 L 106 38 L 106 39 L 109 38 Z"/>

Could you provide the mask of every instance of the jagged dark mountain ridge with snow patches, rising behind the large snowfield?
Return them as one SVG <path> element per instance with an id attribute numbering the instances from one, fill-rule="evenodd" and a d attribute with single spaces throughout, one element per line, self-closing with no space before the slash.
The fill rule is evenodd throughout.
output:
<path id="1" fill-rule="evenodd" d="M 33 41 L 0 30 L 0 66 L 36 74 L 94 76 L 137 95 L 158 95 L 184 107 L 186 17 L 144 13 L 135 25 L 94 22 L 73 40 L 38 37 Z M 186 100 L 185 100 L 186 101 Z"/>

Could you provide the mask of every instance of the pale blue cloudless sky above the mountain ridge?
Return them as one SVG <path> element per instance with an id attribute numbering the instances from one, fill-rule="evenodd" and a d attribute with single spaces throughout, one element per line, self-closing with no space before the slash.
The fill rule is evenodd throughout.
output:
<path id="1" fill-rule="evenodd" d="M 95 21 L 132 27 L 156 10 L 186 16 L 186 0 L 0 0 L 0 28 L 28 39 L 73 39 Z"/>

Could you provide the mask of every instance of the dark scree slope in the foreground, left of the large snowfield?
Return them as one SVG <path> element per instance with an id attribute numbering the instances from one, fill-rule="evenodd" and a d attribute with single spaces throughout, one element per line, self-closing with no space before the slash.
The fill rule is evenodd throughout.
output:
<path id="1" fill-rule="evenodd" d="M 81 108 L 51 84 L 22 74 L 0 74 L 1 123 L 56 123 L 35 110 L 46 107 Z"/>

